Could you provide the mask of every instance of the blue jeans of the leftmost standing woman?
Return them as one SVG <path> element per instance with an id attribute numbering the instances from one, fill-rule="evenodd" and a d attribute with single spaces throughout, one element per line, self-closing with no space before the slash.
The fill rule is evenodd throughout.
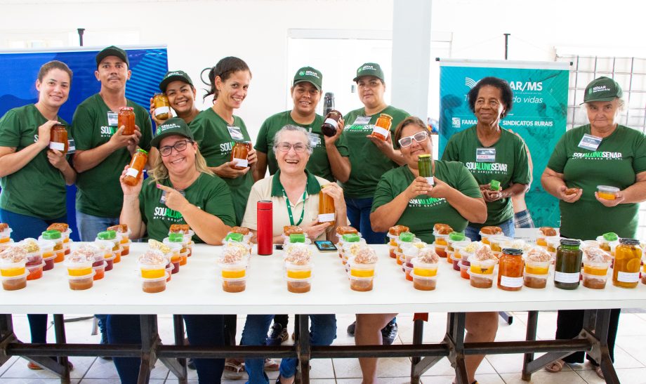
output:
<path id="1" fill-rule="evenodd" d="M 44 220 L 0 208 L 0 223 L 6 223 L 11 227 L 11 238 L 14 241 L 20 241 L 27 237 L 37 239 L 42 232 L 47 230 L 49 225 L 67 223 L 67 215 L 52 220 Z M 47 315 L 27 315 L 27 320 L 29 320 L 32 343 L 47 343 Z"/>

